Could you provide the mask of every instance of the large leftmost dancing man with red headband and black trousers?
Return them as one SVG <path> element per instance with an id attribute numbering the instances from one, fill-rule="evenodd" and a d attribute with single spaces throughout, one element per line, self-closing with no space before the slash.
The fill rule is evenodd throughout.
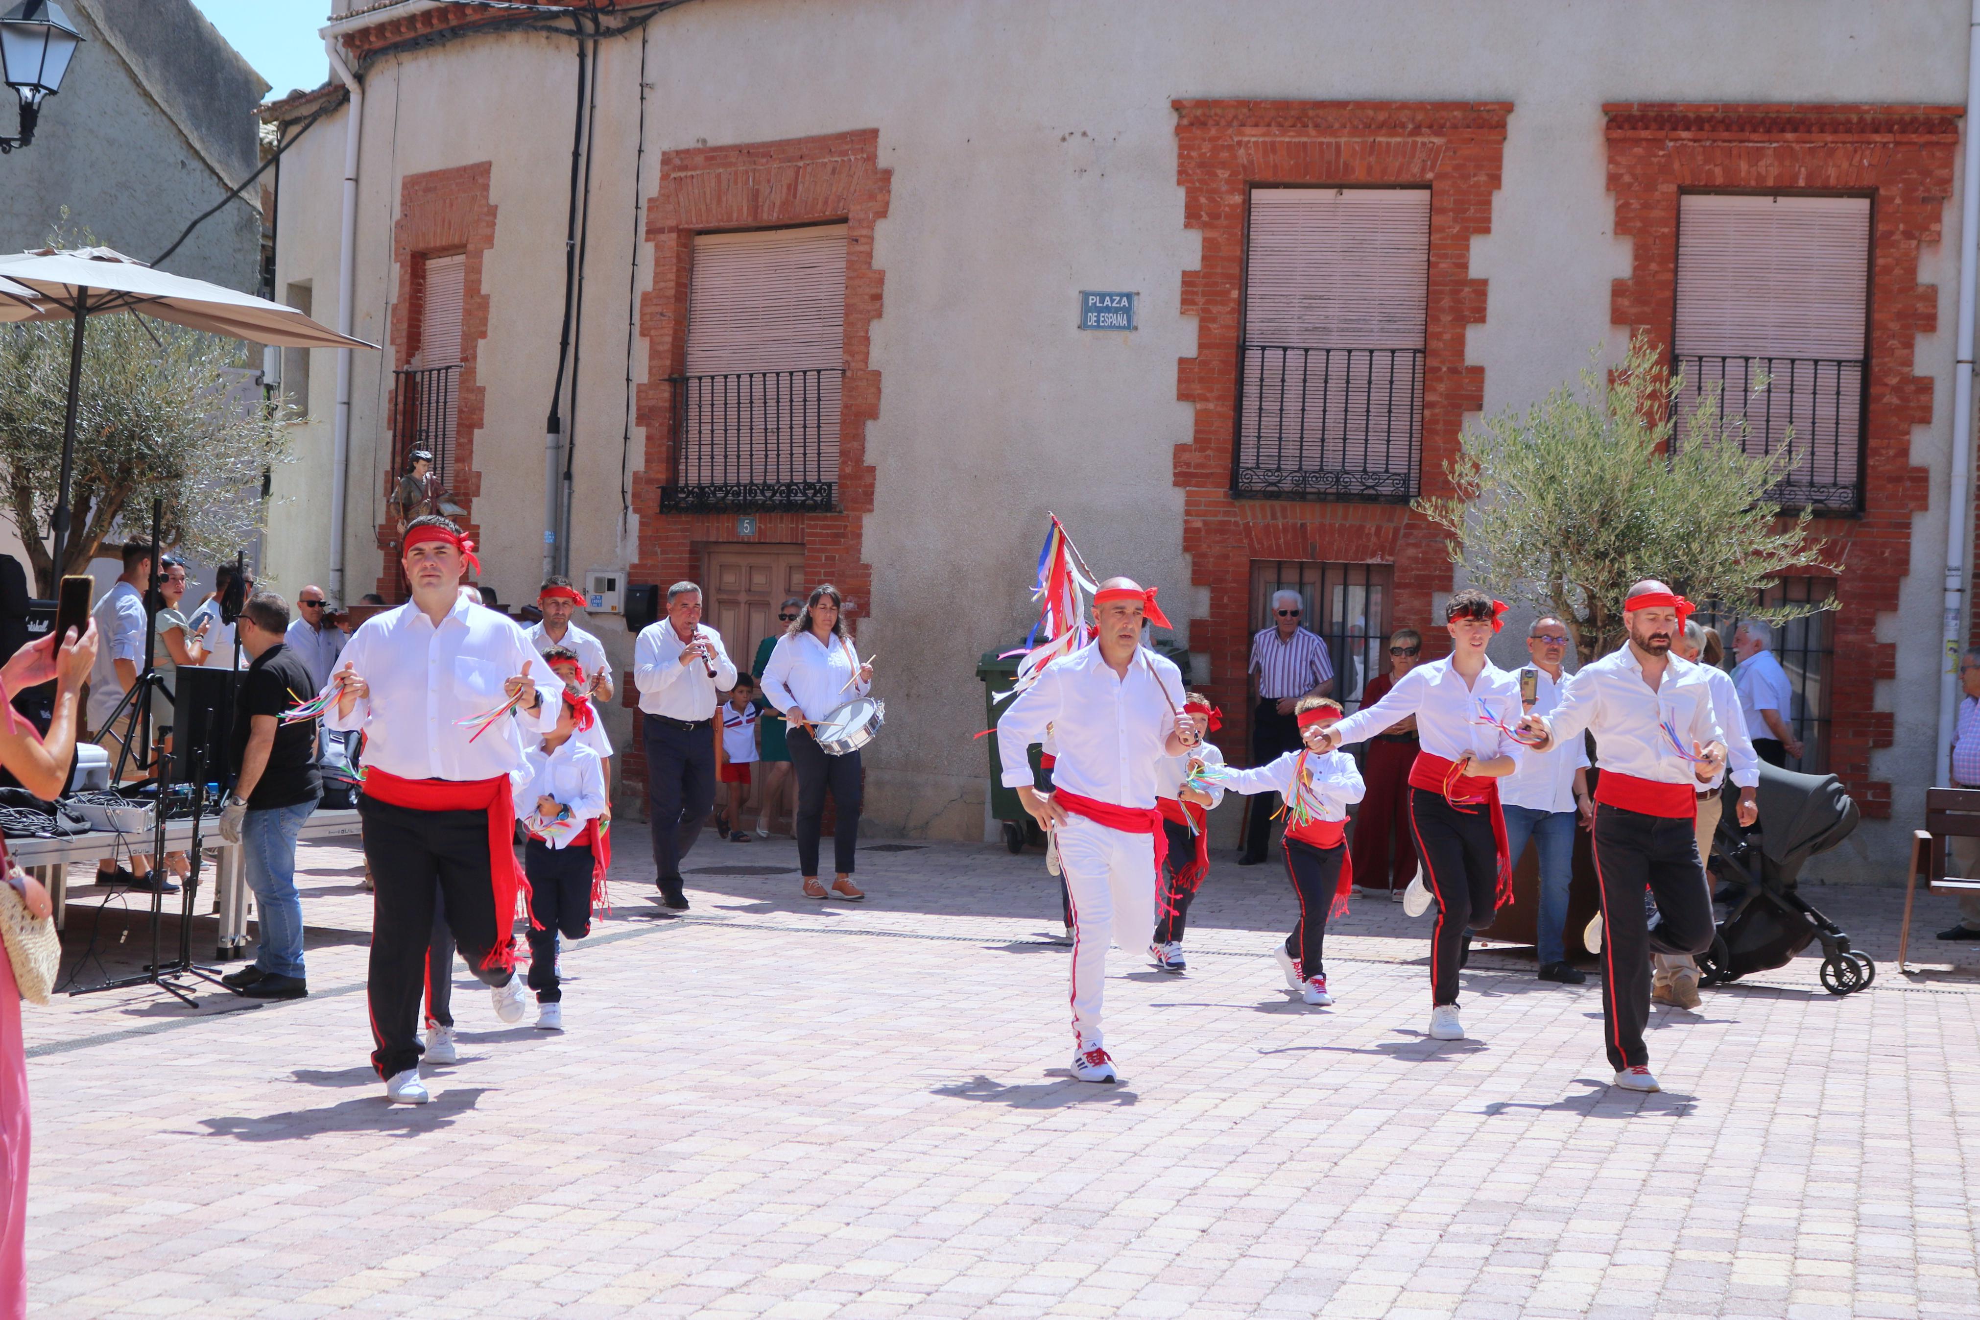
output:
<path id="1" fill-rule="evenodd" d="M 374 883 L 370 948 L 372 1067 L 386 1100 L 424 1104 L 420 991 L 446 896 L 447 926 L 495 1015 L 521 1021 L 515 974 L 515 792 L 529 782 L 525 730 L 556 726 L 562 685 L 543 669 L 523 629 L 461 598 L 479 570 L 473 542 L 440 515 L 406 524 L 400 554 L 412 600 L 372 615 L 331 679 L 325 724 L 364 730 L 364 861 Z"/>

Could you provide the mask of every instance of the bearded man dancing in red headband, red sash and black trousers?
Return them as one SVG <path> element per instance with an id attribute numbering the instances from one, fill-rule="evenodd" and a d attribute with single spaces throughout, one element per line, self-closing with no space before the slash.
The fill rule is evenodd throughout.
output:
<path id="1" fill-rule="evenodd" d="M 1521 730 L 1540 750 L 1584 730 L 1596 736 L 1596 877 L 1602 885 L 1604 1047 L 1616 1084 L 1657 1090 L 1643 1047 L 1649 956 L 1695 956 L 1713 942 L 1713 895 L 1699 861 L 1699 786 L 1727 762 L 1705 669 L 1671 655 L 1691 602 L 1661 582 L 1637 582 L 1622 608 L 1630 639 L 1582 665 L 1560 707 L 1529 714 Z M 1758 774 L 1732 772 L 1740 788 Z M 1643 912 L 1643 887 L 1657 924 Z"/>

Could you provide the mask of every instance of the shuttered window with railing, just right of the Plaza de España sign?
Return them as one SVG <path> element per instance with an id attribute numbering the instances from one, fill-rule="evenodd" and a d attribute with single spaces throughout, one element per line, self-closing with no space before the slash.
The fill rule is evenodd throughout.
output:
<path id="1" fill-rule="evenodd" d="M 1253 188 L 1236 493 L 1418 491 L 1428 188 Z"/>

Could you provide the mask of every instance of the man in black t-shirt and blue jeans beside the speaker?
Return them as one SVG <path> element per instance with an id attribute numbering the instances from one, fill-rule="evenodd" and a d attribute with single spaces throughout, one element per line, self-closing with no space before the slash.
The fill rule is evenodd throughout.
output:
<path id="1" fill-rule="evenodd" d="M 220 835 L 246 851 L 248 889 L 259 902 L 261 942 L 251 966 L 220 978 L 255 999 L 301 999 L 303 900 L 295 893 L 295 837 L 317 809 L 317 720 L 283 724 L 281 716 L 311 697 L 303 657 L 283 645 L 289 606 L 273 592 L 246 604 L 242 649 L 253 657 L 234 697 L 234 792 L 220 813 Z"/>

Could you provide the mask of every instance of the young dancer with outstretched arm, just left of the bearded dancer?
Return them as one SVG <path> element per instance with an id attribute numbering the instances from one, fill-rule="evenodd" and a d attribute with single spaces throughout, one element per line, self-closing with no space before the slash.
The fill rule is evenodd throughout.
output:
<path id="1" fill-rule="evenodd" d="M 1317 748 L 1331 752 L 1416 716 L 1422 750 L 1410 768 L 1410 829 L 1424 883 L 1437 902 L 1430 942 L 1434 1041 L 1465 1039 L 1457 970 L 1471 946 L 1469 932 L 1489 926 L 1497 906 L 1513 900 L 1499 780 L 1519 768 L 1523 750 L 1511 734 L 1521 718 L 1519 679 L 1485 657 L 1503 613 L 1505 606 L 1485 592 L 1451 596 L 1443 608 L 1451 653 L 1406 673 L 1382 701 L 1335 724 Z"/>

